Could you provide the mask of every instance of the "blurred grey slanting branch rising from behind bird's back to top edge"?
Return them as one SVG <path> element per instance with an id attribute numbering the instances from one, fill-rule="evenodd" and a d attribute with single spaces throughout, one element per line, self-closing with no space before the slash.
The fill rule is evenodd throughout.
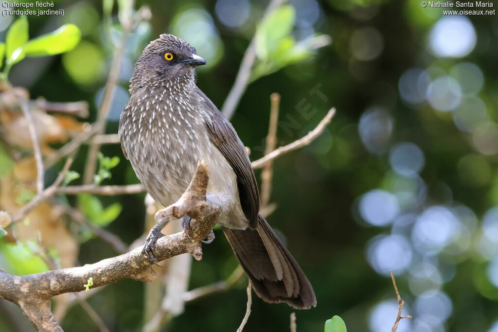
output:
<path id="1" fill-rule="evenodd" d="M 263 18 L 261 22 L 268 17 L 268 15 L 276 8 L 278 8 L 284 0 L 270 0 L 268 6 L 264 10 Z M 248 84 L 250 73 L 252 70 L 252 66 L 254 65 L 254 61 L 256 60 L 256 33 L 252 36 L 252 39 L 249 43 L 246 52 L 244 53 L 244 57 L 242 58 L 241 66 L 239 68 L 239 72 L 237 73 L 237 77 L 235 78 L 235 83 L 230 89 L 230 92 L 223 104 L 221 109 L 223 115 L 226 118 L 230 119 L 232 115 L 234 115 L 235 109 L 239 105 L 239 102 L 242 98 L 242 95 L 246 91 Z"/>

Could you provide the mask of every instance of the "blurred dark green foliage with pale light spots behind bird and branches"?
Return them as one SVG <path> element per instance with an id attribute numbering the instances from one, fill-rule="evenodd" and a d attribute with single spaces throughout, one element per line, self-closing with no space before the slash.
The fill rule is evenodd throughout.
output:
<path id="1" fill-rule="evenodd" d="M 99 1 L 54 3 L 65 15 L 27 17 L 29 36 L 70 23 L 81 41 L 61 56 L 24 59 L 11 68 L 9 80 L 32 98 L 88 101 L 91 122 L 110 67 L 110 40 L 120 38 L 116 7 L 109 1 L 104 9 Z M 137 7 L 143 4 L 152 16 L 126 43 L 109 133 L 117 132 L 134 61 L 163 32 L 185 38 L 207 59 L 198 86 L 221 107 L 266 6 L 217 0 L 138 1 Z M 0 40 L 13 20 L 2 17 Z M 339 315 L 350 331 L 389 331 L 397 308 L 392 269 L 406 302 L 403 314 L 414 317 L 402 320 L 398 331 L 498 331 L 497 16 L 443 15 L 418 0 L 292 0 L 256 34 L 251 84 L 232 119 L 252 159 L 262 155 L 271 93 L 282 97 L 280 145 L 303 136 L 330 107 L 338 110 L 319 139 L 275 162 L 271 200 L 278 208 L 268 220 L 318 299 L 317 308 L 297 312 L 298 329 L 321 331 Z M 119 145 L 102 151 L 97 182 L 137 182 Z M 85 156 L 83 149 L 74 171 L 82 173 Z M 13 167 L 5 147 L 0 158 L 5 180 Z M 46 183 L 57 170 L 47 172 Z M 5 182 L 1 186 L 4 195 Z M 21 192 L 15 198 L 30 197 Z M 143 194 L 68 199 L 127 243 L 143 231 Z M 52 249 L 57 259 L 83 265 L 116 254 L 89 230 L 71 231 L 77 243 L 59 241 Z M 203 260 L 192 265 L 190 288 L 227 278 L 237 265 L 217 235 Z M 0 241 L 0 268 L 16 274 L 47 269 L 32 241 Z M 111 330 L 138 331 L 143 289 L 121 281 L 89 303 Z M 167 331 L 234 331 L 245 312 L 244 289 L 241 282 L 188 304 Z M 8 309 L 0 311 L 0 330 L 26 328 L 15 307 L 0 304 Z M 255 299 L 246 329 L 287 331 L 291 312 Z M 96 329 L 79 306 L 62 327 Z"/>

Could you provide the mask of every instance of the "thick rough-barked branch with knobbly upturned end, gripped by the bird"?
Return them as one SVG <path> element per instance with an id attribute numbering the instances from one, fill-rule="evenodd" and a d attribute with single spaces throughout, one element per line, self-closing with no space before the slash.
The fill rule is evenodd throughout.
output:
<path id="1" fill-rule="evenodd" d="M 155 255 L 158 260 L 190 252 L 202 258 L 201 240 L 207 237 L 220 216 L 221 201 L 206 195 L 209 181 L 207 165 L 199 163 L 189 188 L 173 205 L 161 210 L 162 216 L 192 218 L 188 235 L 179 232 L 161 237 Z M 113 258 L 80 267 L 43 273 L 14 276 L 0 271 L 0 298 L 17 304 L 38 331 L 62 331 L 51 310 L 51 298 L 68 292 L 81 292 L 92 278 L 93 287 L 100 287 L 121 279 L 151 281 L 156 273 L 141 247 Z"/>

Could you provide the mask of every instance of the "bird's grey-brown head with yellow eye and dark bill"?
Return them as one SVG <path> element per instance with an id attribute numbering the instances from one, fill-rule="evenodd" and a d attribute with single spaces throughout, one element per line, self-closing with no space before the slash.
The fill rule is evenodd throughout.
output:
<path id="1" fill-rule="evenodd" d="M 185 84 L 195 80 L 194 68 L 205 65 L 195 47 L 172 34 L 151 41 L 138 58 L 130 79 L 130 93 L 149 85 Z"/>

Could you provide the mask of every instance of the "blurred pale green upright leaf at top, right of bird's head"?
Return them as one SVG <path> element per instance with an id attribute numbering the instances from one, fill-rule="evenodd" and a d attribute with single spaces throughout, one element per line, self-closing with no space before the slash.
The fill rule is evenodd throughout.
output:
<path id="1" fill-rule="evenodd" d="M 268 59 L 280 41 L 292 31 L 296 10 L 284 5 L 272 11 L 256 29 L 256 54 L 259 59 Z"/>

